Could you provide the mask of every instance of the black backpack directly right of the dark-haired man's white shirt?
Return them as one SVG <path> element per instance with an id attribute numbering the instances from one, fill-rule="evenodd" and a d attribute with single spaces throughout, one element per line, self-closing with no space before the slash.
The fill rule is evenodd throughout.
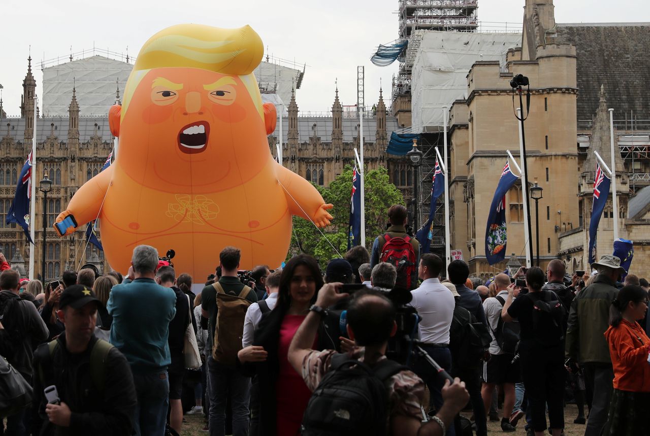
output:
<path id="1" fill-rule="evenodd" d="M 474 315 L 457 302 L 449 327 L 452 366 L 461 369 L 478 368 L 490 342 L 492 337 L 485 324 L 476 322 Z"/>

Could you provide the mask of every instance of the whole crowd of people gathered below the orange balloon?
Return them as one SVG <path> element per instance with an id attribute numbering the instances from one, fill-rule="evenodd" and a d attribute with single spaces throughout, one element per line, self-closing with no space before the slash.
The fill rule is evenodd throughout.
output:
<path id="1" fill-rule="evenodd" d="M 486 283 L 421 253 L 404 206 L 387 212 L 370 253 L 324 272 L 301 254 L 240 274 L 226 247 L 197 294 L 151 246 L 125 276 L 45 287 L 0 253 L 0 355 L 32 386 L 0 435 L 174 435 L 203 414 L 211 436 L 485 436 L 487 420 L 560 436 L 567 402 L 585 435 L 650 434 L 645 279 L 604 255 L 591 273 L 556 259 Z"/>

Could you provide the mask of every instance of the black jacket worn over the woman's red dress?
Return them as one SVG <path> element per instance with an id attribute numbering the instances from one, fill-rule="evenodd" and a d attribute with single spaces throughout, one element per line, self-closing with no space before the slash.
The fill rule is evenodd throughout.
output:
<path id="1" fill-rule="evenodd" d="M 263 346 L 268 353 L 265 362 L 241 364 L 239 359 L 237 365 L 242 372 L 248 376 L 257 376 L 259 384 L 259 436 L 276 436 L 277 431 L 277 409 L 276 409 L 276 385 L 279 377 L 278 346 L 280 327 L 285 313 L 279 307 L 266 314 L 255 330 L 253 345 Z M 338 319 L 336 320 L 338 322 Z M 339 331 L 334 329 L 333 319 L 331 322 L 322 320 L 318 326 L 318 350 L 339 350 Z M 250 435 L 258 436 L 258 435 Z M 279 435 L 282 436 L 282 435 Z"/>

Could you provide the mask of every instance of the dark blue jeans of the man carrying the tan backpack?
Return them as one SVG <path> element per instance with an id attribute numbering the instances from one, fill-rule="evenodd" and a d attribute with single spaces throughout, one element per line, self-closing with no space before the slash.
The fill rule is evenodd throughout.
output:
<path id="1" fill-rule="evenodd" d="M 233 436 L 248 436 L 250 377 L 242 376 L 233 366 L 207 358 L 207 385 L 210 397 L 210 436 L 226 434 L 226 401 L 230 394 L 233 409 Z"/>

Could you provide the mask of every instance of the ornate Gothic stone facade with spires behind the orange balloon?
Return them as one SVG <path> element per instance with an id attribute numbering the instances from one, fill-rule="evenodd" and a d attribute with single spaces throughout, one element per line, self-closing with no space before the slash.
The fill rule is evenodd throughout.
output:
<path id="1" fill-rule="evenodd" d="M 83 59 L 74 62 L 84 62 Z M 114 60 L 113 62 L 120 62 Z M 116 99 L 120 97 L 119 88 Z M 346 164 L 354 163 L 354 149 L 359 147 L 359 118 L 349 116 L 334 92 L 330 114 L 300 116 L 295 92 L 283 117 L 283 164 L 290 170 L 315 183 L 328 186 Z M 36 165 L 32 168 L 32 183 L 36 183 L 36 216 L 34 227 L 34 277 L 40 277 L 45 255 L 45 281 L 61 276 L 65 270 L 77 270 L 90 263 L 100 272 L 110 270 L 103 252 L 86 241 L 86 225 L 72 235 L 60 238 L 53 229 L 55 218 L 66 208 L 77 189 L 97 175 L 106 162 L 114 144 L 107 115 L 84 116 L 72 88 L 68 116 L 41 116 L 36 109 L 36 80 L 32 74 L 31 58 L 23 80 L 20 116 L 7 116 L 0 101 L 0 251 L 12 267 L 27 276 L 29 241 L 23 229 L 6 224 L 6 214 L 16 192 L 21 168 L 36 137 Z M 107 112 L 108 112 L 107 108 Z M 406 196 L 411 195 L 411 166 L 404 157 L 385 153 L 388 138 L 398 129 L 395 117 L 387 113 L 383 96 L 363 120 L 365 167 L 367 170 L 387 168 L 391 182 Z M 276 154 L 279 129 L 269 136 L 269 147 Z M 39 181 L 47 173 L 53 182 L 47 194 L 47 214 L 44 217 L 44 194 Z M 126 206 L 127 207 L 127 206 Z M 345 219 L 340 218 L 339 219 Z M 44 235 L 44 220 L 45 235 Z M 99 225 L 101 239 L 101 224 Z M 45 250 L 43 241 L 45 237 Z M 164 254 L 164 253 L 163 253 Z M 122 272 L 124 273 L 124 271 Z"/>

